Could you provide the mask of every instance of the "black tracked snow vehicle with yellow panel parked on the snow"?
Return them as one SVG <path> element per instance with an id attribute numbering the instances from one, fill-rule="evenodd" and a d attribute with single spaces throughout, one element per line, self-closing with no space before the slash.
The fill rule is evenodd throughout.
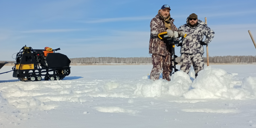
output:
<path id="1" fill-rule="evenodd" d="M 22 47 L 17 52 L 16 63 L 13 67 L 13 77 L 21 81 L 61 80 L 70 74 L 70 59 L 60 50 L 45 47 L 44 49 L 32 49 Z"/>

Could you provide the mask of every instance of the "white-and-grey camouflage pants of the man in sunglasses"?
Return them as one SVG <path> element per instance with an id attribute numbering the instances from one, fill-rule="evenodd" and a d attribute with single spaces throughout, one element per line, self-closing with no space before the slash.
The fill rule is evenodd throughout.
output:
<path id="1" fill-rule="evenodd" d="M 204 55 L 201 53 L 197 54 L 184 54 L 180 56 L 180 70 L 185 73 L 189 73 L 191 68 L 191 63 L 195 70 L 195 77 L 198 76 L 198 72 L 204 69 Z"/>

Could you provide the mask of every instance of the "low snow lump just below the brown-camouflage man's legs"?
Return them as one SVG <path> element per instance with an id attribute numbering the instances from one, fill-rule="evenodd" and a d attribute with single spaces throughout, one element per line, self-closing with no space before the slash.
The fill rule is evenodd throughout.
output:
<path id="1" fill-rule="evenodd" d="M 155 97 L 161 96 L 162 94 L 162 85 L 166 80 L 157 80 L 157 81 L 143 81 L 137 84 L 137 88 L 134 91 L 135 95 L 144 96 L 144 97 Z"/>

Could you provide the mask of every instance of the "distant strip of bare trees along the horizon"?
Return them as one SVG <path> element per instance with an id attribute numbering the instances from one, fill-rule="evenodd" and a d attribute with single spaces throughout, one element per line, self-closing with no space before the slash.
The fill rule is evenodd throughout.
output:
<path id="1" fill-rule="evenodd" d="M 71 63 L 152 63 L 151 57 L 129 57 L 129 58 L 116 58 L 116 57 L 85 57 L 85 58 L 70 58 Z M 180 63 L 180 57 L 176 58 L 176 62 Z M 204 58 L 207 62 L 207 58 Z M 256 63 L 256 56 L 243 55 L 243 56 L 213 56 L 209 57 L 210 63 Z"/>

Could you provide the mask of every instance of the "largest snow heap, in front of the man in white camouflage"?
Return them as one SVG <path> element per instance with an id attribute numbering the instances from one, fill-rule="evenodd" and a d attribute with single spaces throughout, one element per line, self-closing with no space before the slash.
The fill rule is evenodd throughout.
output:
<path id="1" fill-rule="evenodd" d="M 247 91 L 243 89 L 230 88 L 232 74 L 222 69 L 206 67 L 198 73 L 193 81 L 192 87 L 183 94 L 187 99 L 207 99 L 207 98 L 225 98 L 225 99 L 245 99 L 248 96 Z"/>

